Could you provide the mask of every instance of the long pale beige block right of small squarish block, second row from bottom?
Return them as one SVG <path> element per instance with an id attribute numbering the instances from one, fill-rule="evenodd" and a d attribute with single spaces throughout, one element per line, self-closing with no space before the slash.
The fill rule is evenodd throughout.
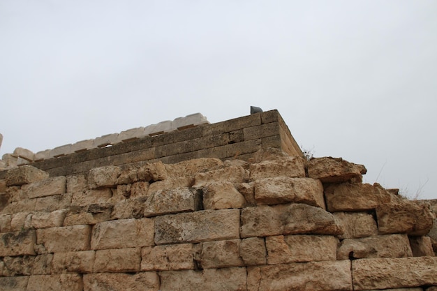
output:
<path id="1" fill-rule="evenodd" d="M 329 235 L 266 237 L 268 264 L 336 260 L 338 239 Z"/>

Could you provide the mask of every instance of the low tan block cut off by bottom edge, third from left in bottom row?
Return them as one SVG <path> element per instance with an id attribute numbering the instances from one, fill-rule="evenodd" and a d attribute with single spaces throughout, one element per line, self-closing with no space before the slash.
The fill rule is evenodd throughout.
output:
<path id="1" fill-rule="evenodd" d="M 156 272 L 84 274 L 83 291 L 158 291 Z M 177 289 L 175 289 L 177 290 Z"/>

